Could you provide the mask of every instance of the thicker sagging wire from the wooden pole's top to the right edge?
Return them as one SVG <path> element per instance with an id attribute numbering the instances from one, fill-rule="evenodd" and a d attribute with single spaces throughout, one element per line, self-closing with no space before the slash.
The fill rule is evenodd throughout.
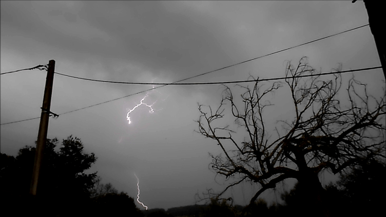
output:
<path id="1" fill-rule="evenodd" d="M 324 72 L 314 75 L 300 75 L 297 77 L 308 77 L 308 76 L 317 76 L 317 75 L 327 75 L 327 74 L 337 74 L 337 73 L 345 73 L 345 72 L 356 72 L 356 71 L 363 71 L 363 70 L 371 70 L 371 69 L 379 69 L 382 68 L 381 66 L 377 67 L 370 67 L 370 68 L 362 68 L 362 69 L 352 69 L 352 70 L 346 70 L 346 71 L 337 71 L 337 72 Z M 55 72 L 56 74 L 73 77 L 73 78 L 79 78 L 81 80 L 88 80 L 88 81 L 94 81 L 94 82 L 103 82 L 103 83 L 115 83 L 115 84 L 134 84 L 134 85 L 217 85 L 217 84 L 236 84 L 236 83 L 248 83 L 248 82 L 257 82 L 257 81 L 273 81 L 273 80 L 282 80 L 286 77 L 276 77 L 276 78 L 263 78 L 258 80 L 242 80 L 242 81 L 231 81 L 231 82 L 199 82 L 199 83 L 142 83 L 142 82 L 113 82 L 113 81 L 102 81 L 102 80 L 94 80 L 89 78 L 81 78 L 76 77 L 72 75 L 66 75 L 62 73 Z M 292 78 L 292 77 L 287 77 Z"/>

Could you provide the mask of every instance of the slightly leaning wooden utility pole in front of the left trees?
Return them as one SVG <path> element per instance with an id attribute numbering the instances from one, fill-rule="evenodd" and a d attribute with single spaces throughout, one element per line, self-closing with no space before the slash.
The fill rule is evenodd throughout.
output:
<path id="1" fill-rule="evenodd" d="M 40 115 L 39 132 L 37 134 L 35 162 L 33 165 L 33 173 L 32 173 L 32 180 L 31 180 L 31 187 L 30 187 L 30 194 L 32 195 L 36 195 L 37 181 L 39 178 L 39 172 L 42 165 L 44 146 L 46 145 L 46 140 L 47 140 L 48 120 L 50 116 L 54 72 L 55 72 L 55 61 L 50 60 L 48 63 L 46 87 L 44 89 L 42 113 Z"/>

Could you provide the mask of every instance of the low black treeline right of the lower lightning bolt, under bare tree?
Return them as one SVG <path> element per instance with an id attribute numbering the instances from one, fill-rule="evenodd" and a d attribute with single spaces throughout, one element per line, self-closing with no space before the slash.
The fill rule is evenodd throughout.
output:
<path id="1" fill-rule="evenodd" d="M 329 202 L 329 216 L 377 216 L 383 212 L 386 204 L 386 166 L 383 162 L 362 162 L 349 173 L 340 174 L 336 184 L 330 183 L 324 188 Z M 268 205 L 263 199 L 244 209 L 240 205 L 231 205 L 227 200 L 211 200 L 208 205 L 193 205 L 165 210 L 148 210 L 145 216 L 325 216 L 312 207 L 303 196 L 306 188 L 295 184 L 289 192 L 281 194 L 283 203 Z M 151 215 L 156 211 L 157 215 Z M 244 211 L 244 212 L 243 212 Z M 150 213 L 150 214 L 149 214 Z"/>

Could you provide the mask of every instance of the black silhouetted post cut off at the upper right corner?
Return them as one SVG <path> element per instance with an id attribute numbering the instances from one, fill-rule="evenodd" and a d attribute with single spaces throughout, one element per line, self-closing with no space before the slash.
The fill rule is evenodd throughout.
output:
<path id="1" fill-rule="evenodd" d="M 355 3 L 356 0 L 352 1 Z M 380 1 L 369 1 L 363 0 L 364 6 L 366 7 L 367 14 L 369 16 L 369 24 L 371 33 L 374 36 L 375 45 L 377 47 L 379 60 L 381 62 L 383 75 L 386 80 L 386 46 L 385 38 L 386 34 L 384 33 L 384 7 Z"/>

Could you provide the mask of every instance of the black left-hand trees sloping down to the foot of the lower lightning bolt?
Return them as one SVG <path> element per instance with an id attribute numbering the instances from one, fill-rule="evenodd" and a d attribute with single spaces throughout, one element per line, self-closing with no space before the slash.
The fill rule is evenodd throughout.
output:
<path id="1" fill-rule="evenodd" d="M 80 139 L 69 136 L 58 144 L 47 139 L 36 196 L 29 194 L 35 147 L 15 157 L 1 154 L 1 216 L 143 216 L 133 198 L 85 172 L 96 156 L 84 153 Z"/>

